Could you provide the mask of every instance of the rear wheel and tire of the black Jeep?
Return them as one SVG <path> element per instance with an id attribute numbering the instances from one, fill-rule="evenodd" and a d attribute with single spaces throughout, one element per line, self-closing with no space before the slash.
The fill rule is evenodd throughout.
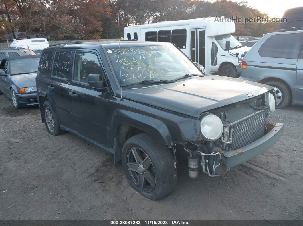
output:
<path id="1" fill-rule="evenodd" d="M 43 103 L 42 113 L 48 133 L 57 136 L 66 132 L 60 129 L 58 118 L 48 100 Z"/>

